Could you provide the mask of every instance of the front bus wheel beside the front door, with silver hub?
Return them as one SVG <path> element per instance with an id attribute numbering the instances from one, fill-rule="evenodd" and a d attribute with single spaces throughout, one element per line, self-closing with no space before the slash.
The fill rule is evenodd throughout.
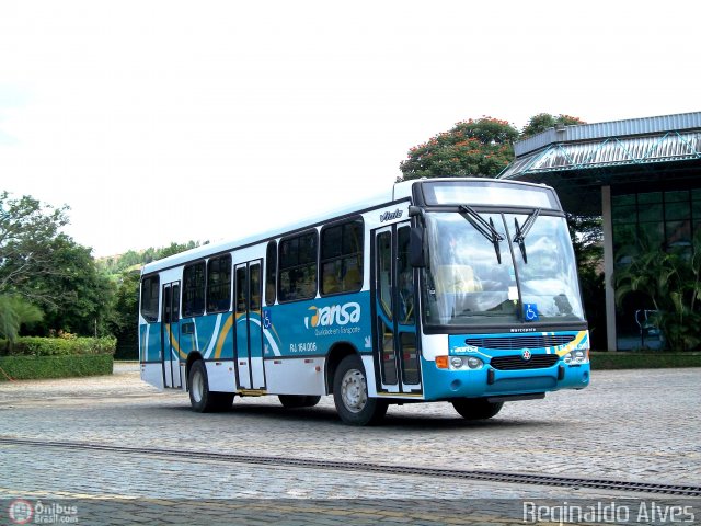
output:
<path id="1" fill-rule="evenodd" d="M 386 400 L 368 397 L 368 385 L 363 361 L 356 354 L 338 364 L 333 379 L 333 401 L 345 424 L 372 425 L 387 413 Z"/>

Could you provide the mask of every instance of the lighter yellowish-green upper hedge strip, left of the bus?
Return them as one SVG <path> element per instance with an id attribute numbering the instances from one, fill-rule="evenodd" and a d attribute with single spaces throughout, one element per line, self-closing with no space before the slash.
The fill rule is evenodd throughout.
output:
<path id="1" fill-rule="evenodd" d="M 114 355 L 117 340 L 105 338 L 18 338 L 10 344 L 0 340 L 0 356 Z"/>

